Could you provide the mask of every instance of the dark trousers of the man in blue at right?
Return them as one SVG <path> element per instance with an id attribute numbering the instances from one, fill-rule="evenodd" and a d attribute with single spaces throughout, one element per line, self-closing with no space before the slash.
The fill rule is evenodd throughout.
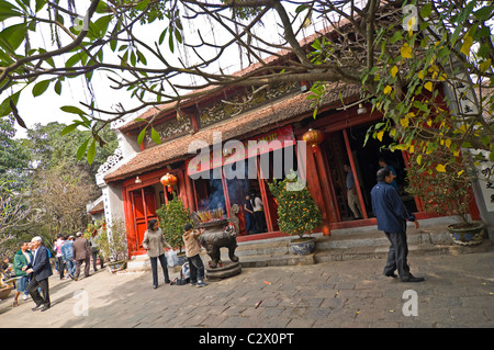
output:
<path id="1" fill-rule="evenodd" d="M 407 263 L 408 245 L 406 242 L 406 232 L 384 232 L 384 234 L 391 242 L 390 251 L 388 252 L 388 262 L 384 267 L 384 274 L 392 275 L 397 269 L 401 280 L 408 278 L 409 267 Z"/>

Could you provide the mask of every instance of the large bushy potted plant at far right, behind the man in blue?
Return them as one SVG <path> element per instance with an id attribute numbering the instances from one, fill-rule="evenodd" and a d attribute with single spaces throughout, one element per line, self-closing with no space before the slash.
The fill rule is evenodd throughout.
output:
<path id="1" fill-rule="evenodd" d="M 458 245 L 482 242 L 485 225 L 470 218 L 469 206 L 473 201 L 471 191 L 474 174 L 469 171 L 465 157 L 446 158 L 447 151 L 437 149 L 411 157 L 407 191 L 418 195 L 424 208 L 437 215 L 451 215 L 457 223 L 448 226 L 451 238 Z"/>

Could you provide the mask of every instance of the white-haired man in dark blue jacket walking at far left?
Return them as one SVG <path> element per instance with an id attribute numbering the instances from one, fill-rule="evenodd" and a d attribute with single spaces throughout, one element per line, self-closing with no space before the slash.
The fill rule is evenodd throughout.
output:
<path id="1" fill-rule="evenodd" d="M 32 311 L 38 309 L 42 305 L 42 312 L 47 311 L 52 304 L 49 302 L 49 286 L 48 278 L 53 274 L 52 266 L 49 264 L 48 249 L 42 245 L 43 239 L 40 236 L 31 240 L 33 260 L 27 264 L 25 272 L 33 273 L 30 285 L 27 287 L 33 302 L 36 304 Z M 37 291 L 41 287 L 43 296 Z"/>

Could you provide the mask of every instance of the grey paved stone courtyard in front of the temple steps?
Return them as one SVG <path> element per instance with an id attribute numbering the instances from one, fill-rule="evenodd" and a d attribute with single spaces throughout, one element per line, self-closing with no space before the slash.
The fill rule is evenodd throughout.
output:
<path id="1" fill-rule="evenodd" d="M 384 260 L 244 269 L 205 287 L 151 289 L 150 272 L 100 270 L 78 282 L 50 278 L 52 308 L 0 302 L 14 328 L 449 328 L 494 327 L 494 250 L 411 257 L 423 283 L 382 275 Z M 171 274 L 172 276 L 177 274 Z M 406 292 L 412 291 L 412 292 Z M 405 293 L 405 294 L 404 294 Z M 408 315 L 408 316 L 406 316 Z M 416 315 L 416 316 L 414 316 Z"/>

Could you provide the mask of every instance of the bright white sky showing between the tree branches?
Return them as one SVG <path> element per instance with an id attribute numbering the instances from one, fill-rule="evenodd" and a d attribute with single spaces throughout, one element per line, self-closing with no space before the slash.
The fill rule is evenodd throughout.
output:
<path id="1" fill-rule="evenodd" d="M 81 7 L 82 9 L 83 7 Z M 80 12 L 80 11 L 79 11 Z M 270 23 L 268 23 L 270 22 Z M 271 14 L 271 18 L 265 20 L 266 23 L 266 30 L 262 34 L 262 37 L 270 36 L 271 39 L 273 36 L 278 36 L 276 31 L 272 30 L 272 25 L 276 25 L 277 16 L 274 14 Z M 186 39 L 188 37 L 191 37 L 192 39 L 194 37 L 198 37 L 197 30 L 198 27 L 201 27 L 201 33 L 205 36 L 210 36 L 213 34 L 212 31 L 204 32 L 205 27 L 209 27 L 209 23 L 198 23 L 198 21 L 187 24 L 186 31 L 189 33 L 184 34 Z M 206 26 L 207 25 L 207 26 Z M 186 23 L 184 23 L 186 26 Z M 319 25 L 321 27 L 321 25 Z M 162 22 L 159 23 L 156 21 L 151 25 L 146 26 L 145 29 L 141 29 L 138 31 L 149 31 L 153 33 L 150 35 L 154 41 L 157 41 L 159 33 L 162 31 Z M 308 30 L 311 31 L 311 30 Z M 314 31 L 314 29 L 312 29 Z M 49 43 L 50 42 L 50 34 L 48 31 L 40 31 L 36 32 L 38 37 L 34 38 L 38 41 L 40 43 Z M 156 34 L 158 33 L 158 34 Z M 144 33 L 145 34 L 145 33 Z M 218 33 L 215 32 L 215 37 L 218 37 Z M 305 35 L 308 35 L 305 33 Z M 33 39 L 33 38 L 32 38 Z M 220 38 L 221 39 L 221 38 Z M 165 43 L 164 43 L 165 44 Z M 34 45 L 33 45 L 34 47 Z M 177 55 L 177 50 L 176 54 Z M 242 68 L 239 66 L 239 58 L 238 58 L 238 49 L 234 49 L 232 53 L 233 58 L 228 59 L 227 61 L 224 60 L 222 63 L 223 69 L 227 69 L 229 72 L 237 71 Z M 60 59 L 60 58 L 57 58 Z M 150 59 L 148 59 L 148 63 Z M 167 57 L 168 59 L 168 57 Z M 247 61 L 247 60 L 245 60 Z M 91 89 L 94 92 L 96 95 L 96 103 L 98 108 L 101 109 L 110 109 L 112 105 L 115 105 L 116 103 L 123 103 L 126 109 L 130 109 L 134 105 L 137 105 L 138 101 L 133 102 L 131 99 L 131 93 L 122 90 L 114 90 L 112 89 L 111 81 L 106 79 L 108 72 L 96 72 L 94 77 L 92 78 Z M 36 81 L 42 81 L 45 78 L 40 78 Z M 192 83 L 189 81 L 188 83 Z M 34 86 L 34 83 L 32 84 Z M 36 123 L 40 123 L 42 125 L 46 125 L 50 122 L 60 122 L 65 124 L 71 124 L 71 121 L 77 118 L 78 116 L 75 114 L 65 113 L 60 110 L 60 106 L 63 105 L 76 105 L 81 108 L 82 110 L 86 110 L 80 102 L 89 103 L 90 102 L 90 93 L 88 92 L 88 84 L 85 81 L 83 77 L 72 78 L 72 79 L 66 79 L 66 82 L 63 84 L 61 94 L 58 95 L 54 91 L 54 83 L 49 86 L 49 88 L 43 93 L 42 95 L 34 98 L 32 95 L 32 87 L 29 87 L 25 89 L 23 93 L 21 93 L 21 98 L 18 104 L 18 110 L 21 115 L 21 117 L 24 120 L 25 124 L 29 128 L 34 127 Z M 4 98 L 2 97 L 1 100 Z M 141 111 L 141 113 L 144 113 L 145 109 Z M 132 115 L 131 117 L 137 117 L 139 113 Z M 99 117 L 106 117 L 105 115 L 97 115 Z M 16 127 L 16 135 L 15 138 L 23 138 L 26 136 L 26 131 L 22 127 L 20 127 L 18 124 Z"/>

